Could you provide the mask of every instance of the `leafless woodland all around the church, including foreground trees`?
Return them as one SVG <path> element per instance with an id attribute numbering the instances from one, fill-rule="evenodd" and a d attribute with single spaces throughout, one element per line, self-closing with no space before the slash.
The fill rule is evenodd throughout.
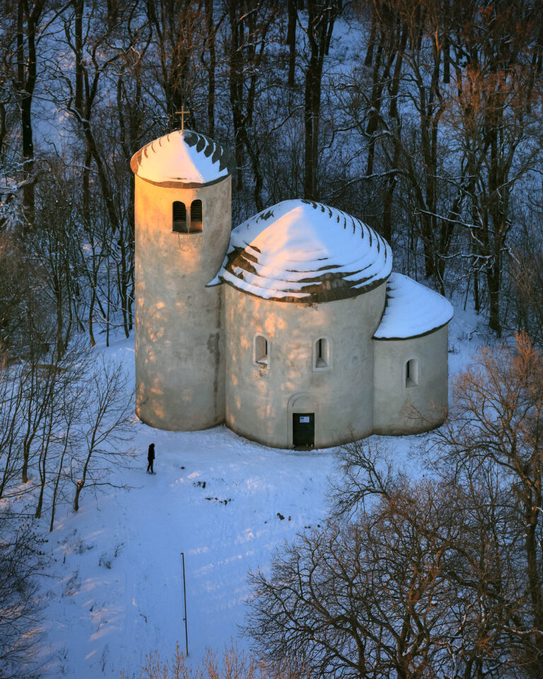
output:
<path id="1" fill-rule="evenodd" d="M 247 633 L 299 674 L 543 676 L 541 1 L 3 0 L 0 35 L 0 499 L 52 529 L 106 482 L 128 396 L 85 345 L 132 330 L 129 161 L 184 106 L 231 153 L 233 225 L 339 207 L 491 336 L 522 331 L 455 383 L 437 481 L 341 453 L 327 526 L 253 574 Z M 13 525 L 5 676 L 40 567 Z"/>

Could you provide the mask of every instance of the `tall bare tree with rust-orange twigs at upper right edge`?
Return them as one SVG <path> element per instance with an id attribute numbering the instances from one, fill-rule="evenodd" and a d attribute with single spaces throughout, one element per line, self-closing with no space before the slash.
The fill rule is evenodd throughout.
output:
<path id="1" fill-rule="evenodd" d="M 459 18 L 453 81 L 463 155 L 461 187 L 470 204 L 465 227 L 472 240 L 472 267 L 486 278 L 489 325 L 500 335 L 513 190 L 541 158 L 534 123 L 543 81 L 534 54 L 542 7 L 519 0 L 482 9 L 473 0 L 462 7 Z M 478 286 L 478 276 L 474 284 Z"/>

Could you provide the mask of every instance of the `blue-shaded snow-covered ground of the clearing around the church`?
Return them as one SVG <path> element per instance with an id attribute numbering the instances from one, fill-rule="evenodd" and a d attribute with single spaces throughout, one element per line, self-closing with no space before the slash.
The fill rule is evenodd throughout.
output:
<path id="1" fill-rule="evenodd" d="M 481 344 L 472 332 L 477 320 L 457 309 L 451 374 Z M 101 350 L 133 370 L 132 339 Z M 398 464 L 409 462 L 411 472 L 420 469 L 423 441 L 386 439 Z M 146 474 L 151 442 L 154 476 Z M 129 445 L 137 450 L 132 468 L 115 472 L 127 489 L 111 488 L 97 498 L 84 492 L 80 511 L 62 509 L 48 535 L 55 559 L 42 588 L 49 678 L 118 676 L 121 669 L 139 676 L 149 652 L 169 657 L 176 641 L 184 649 L 181 552 L 189 661 L 199 663 L 206 646 L 222 651 L 243 622 L 247 571 L 267 569 L 275 547 L 325 514 L 331 449 L 280 451 L 223 426 L 173 433 L 138 421 Z M 242 639 L 240 647 L 247 644 Z"/>

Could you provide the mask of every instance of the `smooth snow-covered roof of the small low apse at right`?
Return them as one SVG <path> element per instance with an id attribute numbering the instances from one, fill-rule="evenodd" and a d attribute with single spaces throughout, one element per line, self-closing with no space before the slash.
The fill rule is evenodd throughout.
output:
<path id="1" fill-rule="evenodd" d="M 395 272 L 387 280 L 385 313 L 373 338 L 405 340 L 426 335 L 448 323 L 453 314 L 445 297 Z"/>

